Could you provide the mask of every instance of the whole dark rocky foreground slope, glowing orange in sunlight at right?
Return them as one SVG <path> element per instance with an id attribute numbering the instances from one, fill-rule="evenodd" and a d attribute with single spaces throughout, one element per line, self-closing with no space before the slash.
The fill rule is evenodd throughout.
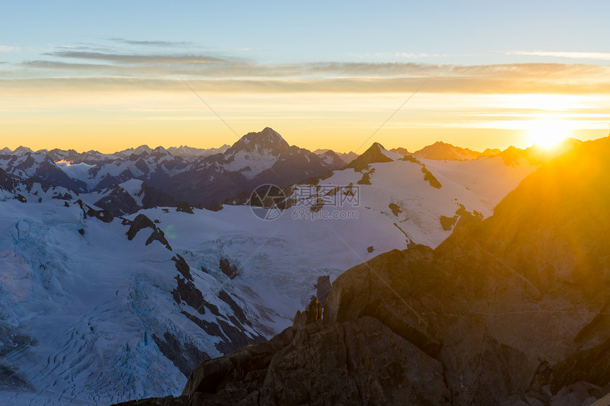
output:
<path id="1" fill-rule="evenodd" d="M 269 342 L 128 405 L 591 405 L 610 392 L 610 140 L 437 249 L 346 271 Z"/>

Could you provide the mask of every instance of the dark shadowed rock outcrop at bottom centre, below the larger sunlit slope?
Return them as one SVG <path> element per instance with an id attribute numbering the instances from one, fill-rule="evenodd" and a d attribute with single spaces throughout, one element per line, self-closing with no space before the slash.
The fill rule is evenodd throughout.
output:
<path id="1" fill-rule="evenodd" d="M 379 320 L 326 325 L 314 299 L 269 342 L 201 363 L 183 395 L 192 405 L 439 405 L 445 385 L 438 361 Z"/>

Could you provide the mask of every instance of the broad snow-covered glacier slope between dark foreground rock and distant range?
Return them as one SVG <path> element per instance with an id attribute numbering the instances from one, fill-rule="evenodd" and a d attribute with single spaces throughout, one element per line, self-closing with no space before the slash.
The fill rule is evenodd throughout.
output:
<path id="1" fill-rule="evenodd" d="M 229 155 L 270 151 L 274 167 L 312 154 L 249 138 Z M 248 158 L 239 155 L 248 148 Z M 90 193 L 0 201 L 0 341 L 10 348 L 0 402 L 178 394 L 201 359 L 292 325 L 296 310 L 328 291 L 325 283 L 379 252 L 436 247 L 454 227 L 490 215 L 535 168 L 501 157 L 404 158 L 375 143 L 348 167 L 284 188 L 279 211 L 160 207 L 116 218 L 89 203 Z M 143 185 L 119 187 L 136 200 Z M 279 217 L 261 220 L 258 209 Z"/>

